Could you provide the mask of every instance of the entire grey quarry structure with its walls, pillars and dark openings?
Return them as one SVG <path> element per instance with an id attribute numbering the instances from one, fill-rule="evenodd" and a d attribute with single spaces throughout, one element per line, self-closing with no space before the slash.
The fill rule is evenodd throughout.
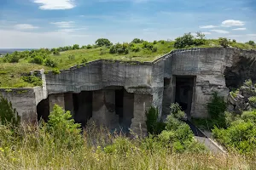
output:
<path id="1" fill-rule="evenodd" d="M 93 120 L 109 128 L 146 133 L 145 111 L 151 105 L 160 117 L 169 114 L 173 102 L 188 118 L 207 117 L 205 105 L 212 92 L 226 99 L 229 88 L 249 78 L 256 81 L 255 57 L 253 50 L 193 48 L 174 50 L 153 62 L 98 59 L 60 74 L 36 71 L 42 87 L 0 88 L 0 94 L 24 122 L 47 120 L 57 104 L 83 126 Z"/>

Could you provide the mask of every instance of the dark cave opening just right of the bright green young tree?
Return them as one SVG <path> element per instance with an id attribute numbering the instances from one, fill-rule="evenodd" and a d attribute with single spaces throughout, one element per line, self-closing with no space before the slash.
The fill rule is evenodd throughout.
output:
<path id="1" fill-rule="evenodd" d="M 92 117 L 92 92 L 73 94 L 73 119 L 85 127 Z"/>

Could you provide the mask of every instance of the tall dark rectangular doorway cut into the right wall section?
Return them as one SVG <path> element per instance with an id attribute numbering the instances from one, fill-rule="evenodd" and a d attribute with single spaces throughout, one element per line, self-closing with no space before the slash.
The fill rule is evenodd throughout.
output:
<path id="1" fill-rule="evenodd" d="M 190 119 L 191 105 L 195 92 L 195 76 L 176 76 L 175 91 L 175 102 L 182 107 Z"/>

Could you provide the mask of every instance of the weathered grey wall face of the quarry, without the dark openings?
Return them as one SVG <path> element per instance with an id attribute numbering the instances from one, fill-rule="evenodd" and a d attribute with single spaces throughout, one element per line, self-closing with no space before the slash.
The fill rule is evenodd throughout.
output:
<path id="1" fill-rule="evenodd" d="M 67 107 L 68 110 L 73 110 L 69 102 L 72 100 L 72 93 L 97 91 L 109 86 L 124 87 L 128 93 L 135 95 L 135 100 L 138 99 L 139 94 L 152 96 L 150 102 L 144 103 L 147 105 L 150 103 L 158 107 L 160 113 L 164 111 L 166 114 L 169 112 L 168 105 L 175 100 L 175 76 L 195 76 L 191 116 L 202 117 L 207 116 L 204 105 L 209 101 L 213 91 L 218 91 L 225 97 L 228 96 L 229 89 L 226 87 L 224 77 L 227 68 L 231 69 L 229 75 L 234 74 L 239 77 L 243 77 L 241 75 L 243 72 L 239 72 L 241 69 L 248 69 L 244 78 L 253 77 L 256 81 L 256 77 L 253 76 L 256 75 L 255 69 L 247 68 L 247 65 L 234 67 L 239 65 L 241 58 L 249 62 L 249 59 L 255 59 L 255 55 L 255 51 L 235 48 L 195 48 L 174 50 L 152 63 L 99 59 L 79 67 L 74 66 L 57 75 L 52 71 L 46 75 L 44 71 L 37 71 L 43 79 L 43 87 L 13 88 L 12 92 L 1 88 L 0 93 L 12 102 L 23 120 L 35 121 L 38 103 L 46 99 L 49 94 L 52 94 L 49 95 L 51 108 L 54 103 L 57 103 Z M 164 78 L 169 81 L 166 85 L 164 85 Z M 24 92 L 18 93 L 18 91 Z M 108 98 L 105 92 L 99 95 Z M 102 102 L 102 97 L 99 101 Z M 104 102 L 102 103 L 105 105 Z M 133 128 L 136 128 L 134 124 L 144 120 L 138 113 L 138 111 L 144 111 L 141 107 L 134 105 Z"/>

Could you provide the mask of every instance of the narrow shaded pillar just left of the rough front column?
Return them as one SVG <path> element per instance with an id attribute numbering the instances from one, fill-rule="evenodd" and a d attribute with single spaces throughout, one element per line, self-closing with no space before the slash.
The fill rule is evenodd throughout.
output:
<path id="1" fill-rule="evenodd" d="M 131 127 L 131 119 L 133 118 L 133 105 L 134 95 L 127 93 L 124 90 L 122 127 L 124 127 L 125 132 L 128 131 L 128 129 Z"/>

